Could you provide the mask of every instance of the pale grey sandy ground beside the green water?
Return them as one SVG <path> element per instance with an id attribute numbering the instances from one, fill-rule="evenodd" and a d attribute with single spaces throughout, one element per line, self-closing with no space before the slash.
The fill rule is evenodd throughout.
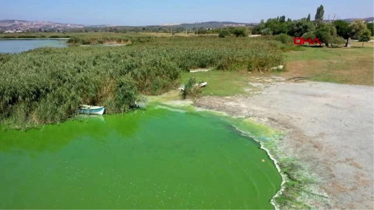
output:
<path id="1" fill-rule="evenodd" d="M 195 103 L 284 131 L 286 152 L 320 178 L 318 209 L 374 209 L 374 87 L 276 82 L 254 96 Z"/>

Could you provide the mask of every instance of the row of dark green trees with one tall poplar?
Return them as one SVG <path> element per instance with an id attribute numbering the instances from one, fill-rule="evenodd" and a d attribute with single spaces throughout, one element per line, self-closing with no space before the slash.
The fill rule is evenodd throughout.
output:
<path id="1" fill-rule="evenodd" d="M 325 45 L 340 45 L 345 43 L 344 39 L 354 38 L 360 41 L 369 41 L 374 34 L 374 23 L 366 24 L 363 20 L 355 20 L 348 23 L 344 20 L 324 21 L 324 6 L 319 6 L 315 20 L 307 18 L 292 21 L 283 15 L 270 18 L 266 22 L 261 20 L 260 24 L 252 28 L 253 34 L 288 34 L 292 37 L 318 38 Z"/>

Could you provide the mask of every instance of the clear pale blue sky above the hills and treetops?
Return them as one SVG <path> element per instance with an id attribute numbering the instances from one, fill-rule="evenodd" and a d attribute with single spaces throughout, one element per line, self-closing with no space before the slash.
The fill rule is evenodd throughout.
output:
<path id="1" fill-rule="evenodd" d="M 85 25 L 160 25 L 206 21 L 260 22 L 285 15 L 300 19 L 317 7 L 325 19 L 374 16 L 374 0 L 0 0 L 0 19 Z M 336 18 L 335 18 L 336 19 Z"/>

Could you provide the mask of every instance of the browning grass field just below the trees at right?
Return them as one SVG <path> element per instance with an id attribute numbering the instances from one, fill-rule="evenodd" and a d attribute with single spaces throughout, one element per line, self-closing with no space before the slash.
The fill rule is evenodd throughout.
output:
<path id="1" fill-rule="evenodd" d="M 374 43 L 367 47 L 312 48 L 287 52 L 284 77 L 309 77 L 313 81 L 374 85 Z"/>

